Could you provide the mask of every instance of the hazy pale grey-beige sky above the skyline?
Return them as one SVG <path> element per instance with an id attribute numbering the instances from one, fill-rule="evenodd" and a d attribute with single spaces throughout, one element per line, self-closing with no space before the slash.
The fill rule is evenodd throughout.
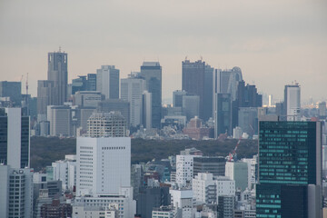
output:
<path id="1" fill-rule="evenodd" d="M 47 53 L 59 46 L 69 82 L 102 64 L 124 78 L 159 60 L 170 98 L 185 56 L 202 56 L 215 68 L 241 67 L 246 83 L 276 98 L 294 80 L 302 99 L 327 98 L 326 0 L 0 1 L 0 80 L 28 72 L 36 95 Z"/>

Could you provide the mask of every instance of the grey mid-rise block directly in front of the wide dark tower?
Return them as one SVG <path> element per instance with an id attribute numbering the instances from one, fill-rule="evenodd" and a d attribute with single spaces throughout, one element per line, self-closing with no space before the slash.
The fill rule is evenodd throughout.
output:
<path id="1" fill-rule="evenodd" d="M 183 113 L 187 120 L 200 114 L 200 97 L 198 95 L 183 96 Z"/>

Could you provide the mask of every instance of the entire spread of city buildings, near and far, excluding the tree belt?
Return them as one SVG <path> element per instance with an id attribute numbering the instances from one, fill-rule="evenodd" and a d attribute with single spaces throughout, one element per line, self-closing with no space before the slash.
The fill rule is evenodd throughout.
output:
<path id="1" fill-rule="evenodd" d="M 0 217 L 327 214 L 326 104 L 304 110 L 298 83 L 285 85 L 282 102 L 263 107 L 263 95 L 239 67 L 186 59 L 182 90 L 163 105 L 158 62 L 144 62 L 127 78 L 103 65 L 72 84 L 67 62 L 64 52 L 48 54 L 37 101 L 21 94 L 20 82 L 0 82 Z M 73 136 L 76 154 L 35 173 L 30 135 Z M 238 143 L 227 157 L 186 148 L 131 164 L 131 136 Z M 258 140 L 258 154 L 238 159 L 237 146 L 247 139 Z"/>

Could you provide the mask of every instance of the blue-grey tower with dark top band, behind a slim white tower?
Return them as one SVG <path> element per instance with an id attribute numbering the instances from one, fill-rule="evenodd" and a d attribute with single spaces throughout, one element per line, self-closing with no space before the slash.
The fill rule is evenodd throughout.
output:
<path id="1" fill-rule="evenodd" d="M 162 118 L 162 67 L 159 62 L 144 62 L 141 74 L 146 81 L 146 89 L 151 93 L 152 127 L 160 129 Z"/>

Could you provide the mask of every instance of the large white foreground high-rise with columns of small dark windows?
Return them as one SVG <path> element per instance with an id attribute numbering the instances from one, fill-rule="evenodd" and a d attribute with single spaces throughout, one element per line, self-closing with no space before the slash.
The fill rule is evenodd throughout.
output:
<path id="1" fill-rule="evenodd" d="M 77 195 L 118 193 L 130 173 L 131 138 L 77 138 Z"/>

